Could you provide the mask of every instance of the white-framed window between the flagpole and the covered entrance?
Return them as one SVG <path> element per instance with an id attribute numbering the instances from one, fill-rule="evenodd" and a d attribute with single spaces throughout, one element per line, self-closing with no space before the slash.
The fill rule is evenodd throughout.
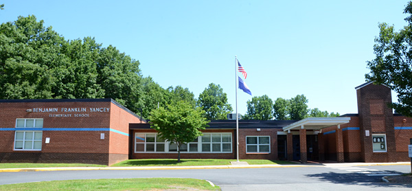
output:
<path id="1" fill-rule="evenodd" d="M 246 153 L 271 153 L 271 137 L 247 136 Z"/>

